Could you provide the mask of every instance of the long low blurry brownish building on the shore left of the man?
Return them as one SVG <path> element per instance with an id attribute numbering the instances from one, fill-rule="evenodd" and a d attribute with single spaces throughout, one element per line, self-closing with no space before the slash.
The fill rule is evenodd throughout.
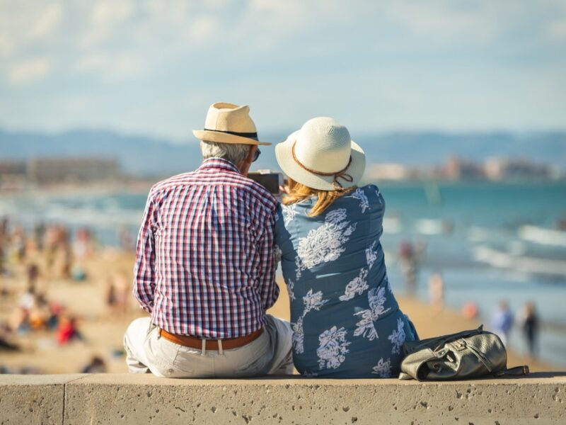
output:
<path id="1" fill-rule="evenodd" d="M 37 158 L 28 162 L 27 175 L 37 183 L 86 182 L 116 179 L 119 169 L 115 159 Z"/>

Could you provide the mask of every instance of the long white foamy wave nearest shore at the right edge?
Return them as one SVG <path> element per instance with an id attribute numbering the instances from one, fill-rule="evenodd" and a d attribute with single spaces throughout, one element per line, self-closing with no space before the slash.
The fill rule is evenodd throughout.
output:
<path id="1" fill-rule="evenodd" d="M 473 249 L 475 261 L 489 264 L 492 267 L 504 268 L 522 273 L 536 273 L 550 276 L 566 276 L 566 262 L 549 259 L 538 259 L 529 256 L 518 256 L 498 251 L 487 245 Z"/>

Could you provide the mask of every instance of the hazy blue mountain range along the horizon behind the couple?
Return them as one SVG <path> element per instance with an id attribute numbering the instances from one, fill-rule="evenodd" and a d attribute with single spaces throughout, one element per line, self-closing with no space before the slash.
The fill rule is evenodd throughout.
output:
<path id="1" fill-rule="evenodd" d="M 261 135 L 279 142 L 286 133 Z M 481 160 L 486 157 L 526 157 L 566 167 L 566 132 L 462 133 L 390 132 L 354 135 L 368 163 L 398 162 L 427 166 L 450 156 Z M 262 147 L 254 169 L 277 169 L 272 147 Z M 115 158 L 122 170 L 137 176 L 163 176 L 195 169 L 200 164 L 197 140 L 180 144 L 112 131 L 77 130 L 57 135 L 0 130 L 0 160 L 30 157 Z"/>

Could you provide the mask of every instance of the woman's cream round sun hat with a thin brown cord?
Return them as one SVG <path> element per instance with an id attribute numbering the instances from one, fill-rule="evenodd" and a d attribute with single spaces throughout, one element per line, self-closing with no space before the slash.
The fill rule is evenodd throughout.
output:
<path id="1" fill-rule="evenodd" d="M 275 157 L 291 179 L 321 191 L 355 186 L 366 167 L 366 155 L 348 129 L 326 117 L 308 120 L 277 144 Z"/>

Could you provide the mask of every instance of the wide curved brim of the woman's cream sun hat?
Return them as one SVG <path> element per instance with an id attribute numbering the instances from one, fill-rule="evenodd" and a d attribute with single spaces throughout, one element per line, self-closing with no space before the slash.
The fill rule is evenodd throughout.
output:
<path id="1" fill-rule="evenodd" d="M 275 145 L 275 157 L 282 171 L 297 183 L 302 183 L 309 188 L 318 189 L 320 191 L 334 191 L 336 189 L 333 185 L 334 176 L 320 176 L 311 173 L 311 171 L 306 171 L 306 169 L 297 164 L 293 159 L 292 149 L 297 135 L 299 135 L 299 131 L 289 135 L 284 142 Z M 351 143 L 352 162 L 345 173 L 352 176 L 352 181 L 339 179 L 338 182 L 343 188 L 356 186 L 358 181 L 362 179 L 364 170 L 366 169 L 366 154 L 364 154 L 364 149 L 359 147 L 354 140 L 351 140 Z"/>

